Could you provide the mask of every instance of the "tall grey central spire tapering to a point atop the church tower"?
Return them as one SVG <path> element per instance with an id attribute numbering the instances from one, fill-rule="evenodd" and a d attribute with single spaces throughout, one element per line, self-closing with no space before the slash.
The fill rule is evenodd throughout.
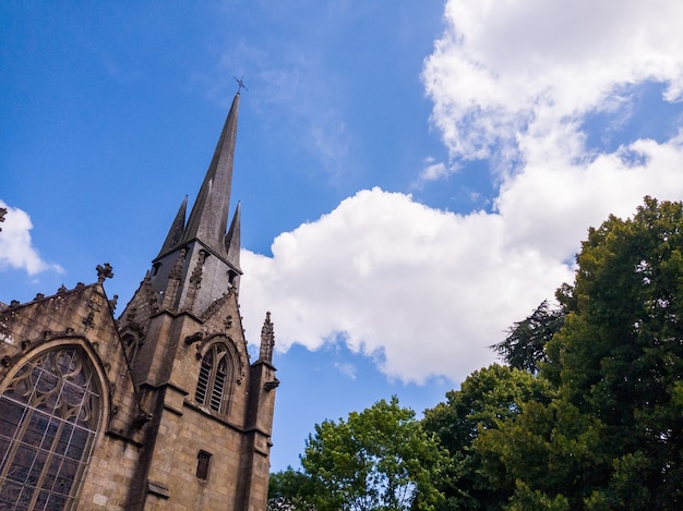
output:
<path id="1" fill-rule="evenodd" d="M 239 105 L 240 93 L 238 92 L 182 238 L 183 244 L 199 240 L 216 255 L 226 258 L 224 238 L 228 226 Z"/>

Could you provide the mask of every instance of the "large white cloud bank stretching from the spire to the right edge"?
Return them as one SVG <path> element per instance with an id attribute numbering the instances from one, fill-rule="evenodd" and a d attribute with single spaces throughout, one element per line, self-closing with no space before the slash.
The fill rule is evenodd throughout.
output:
<path id="1" fill-rule="evenodd" d="M 244 251 L 241 302 L 248 332 L 273 312 L 277 346 L 314 350 L 337 336 L 383 372 L 462 380 L 491 363 L 488 348 L 562 282 L 589 226 L 627 217 L 645 194 L 683 199 L 683 137 L 638 141 L 644 163 L 604 155 L 576 167 L 527 167 L 498 211 L 460 216 L 410 196 L 361 191 L 273 243 Z"/>

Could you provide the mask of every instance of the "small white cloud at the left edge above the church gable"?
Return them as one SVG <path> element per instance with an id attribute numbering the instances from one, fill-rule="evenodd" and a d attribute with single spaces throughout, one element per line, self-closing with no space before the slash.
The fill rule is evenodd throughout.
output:
<path id="1" fill-rule="evenodd" d="M 0 270 L 8 267 L 24 269 L 31 276 L 46 270 L 62 272 L 59 265 L 46 263 L 31 242 L 33 223 L 25 211 L 13 208 L 0 200 L 0 207 L 7 208 L 4 222 L 0 223 Z"/>

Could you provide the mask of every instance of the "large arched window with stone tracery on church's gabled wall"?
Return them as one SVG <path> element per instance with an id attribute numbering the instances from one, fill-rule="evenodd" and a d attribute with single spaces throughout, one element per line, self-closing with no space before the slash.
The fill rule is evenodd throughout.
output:
<path id="1" fill-rule="evenodd" d="M 50 350 L 21 367 L 0 396 L 0 509 L 72 509 L 99 406 L 81 349 Z"/>

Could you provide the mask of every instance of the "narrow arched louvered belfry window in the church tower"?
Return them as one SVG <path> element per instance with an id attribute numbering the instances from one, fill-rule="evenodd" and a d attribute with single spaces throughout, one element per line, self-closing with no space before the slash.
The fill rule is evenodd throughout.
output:
<path id="1" fill-rule="evenodd" d="M 229 354 L 223 343 L 213 344 L 202 358 L 194 399 L 218 413 L 227 413 Z"/>

